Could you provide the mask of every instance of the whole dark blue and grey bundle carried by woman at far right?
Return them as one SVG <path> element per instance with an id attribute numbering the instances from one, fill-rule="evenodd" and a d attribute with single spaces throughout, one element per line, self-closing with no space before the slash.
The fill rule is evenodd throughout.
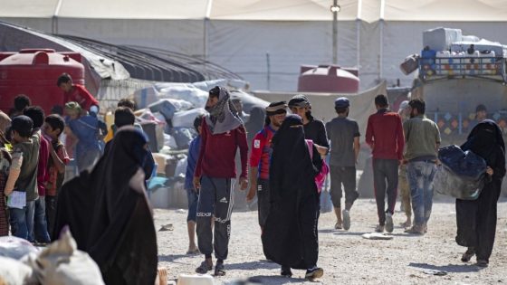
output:
<path id="1" fill-rule="evenodd" d="M 456 199 L 477 199 L 483 189 L 487 167 L 483 157 L 458 146 L 449 146 L 438 150 L 438 158 L 442 165 L 437 167 L 433 180 L 436 192 Z"/>

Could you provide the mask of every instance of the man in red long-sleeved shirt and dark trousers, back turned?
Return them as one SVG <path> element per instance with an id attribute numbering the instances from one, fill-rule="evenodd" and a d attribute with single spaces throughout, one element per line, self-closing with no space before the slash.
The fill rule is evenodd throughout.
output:
<path id="1" fill-rule="evenodd" d="M 386 95 L 375 97 L 375 107 L 378 112 L 369 116 L 366 129 L 366 142 L 373 155 L 373 184 L 378 212 L 378 226 L 375 230 L 383 233 L 385 228 L 387 233 L 392 233 L 397 200 L 397 168 L 403 161 L 405 138 L 401 117 L 388 109 Z"/>

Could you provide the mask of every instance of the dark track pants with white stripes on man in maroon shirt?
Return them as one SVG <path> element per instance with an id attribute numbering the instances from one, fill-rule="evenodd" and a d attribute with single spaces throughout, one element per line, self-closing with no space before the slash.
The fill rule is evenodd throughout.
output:
<path id="1" fill-rule="evenodd" d="M 231 214 L 234 204 L 233 178 L 201 177 L 199 202 L 197 204 L 196 232 L 199 251 L 225 260 L 229 252 L 231 236 Z M 215 233 L 211 219 L 215 215 Z"/>

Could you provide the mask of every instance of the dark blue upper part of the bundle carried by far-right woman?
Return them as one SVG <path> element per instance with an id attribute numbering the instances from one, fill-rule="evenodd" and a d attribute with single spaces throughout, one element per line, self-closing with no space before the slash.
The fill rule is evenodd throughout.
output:
<path id="1" fill-rule="evenodd" d="M 463 151 L 458 146 L 442 147 L 438 150 L 438 159 L 457 176 L 478 179 L 486 172 L 486 162 L 474 152 Z"/>

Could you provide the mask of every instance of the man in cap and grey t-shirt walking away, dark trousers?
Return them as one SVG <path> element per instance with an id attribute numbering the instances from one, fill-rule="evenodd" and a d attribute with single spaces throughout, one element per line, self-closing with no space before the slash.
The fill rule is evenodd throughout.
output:
<path id="1" fill-rule="evenodd" d="M 334 109 L 338 117 L 326 124 L 330 138 L 330 177 L 331 201 L 337 222 L 335 229 L 349 230 L 350 208 L 359 197 L 356 191 L 356 163 L 359 156 L 359 125 L 354 119 L 349 119 L 349 100 L 340 97 L 334 101 Z M 345 190 L 345 209 L 343 209 L 343 224 L 341 221 L 341 185 Z"/>

